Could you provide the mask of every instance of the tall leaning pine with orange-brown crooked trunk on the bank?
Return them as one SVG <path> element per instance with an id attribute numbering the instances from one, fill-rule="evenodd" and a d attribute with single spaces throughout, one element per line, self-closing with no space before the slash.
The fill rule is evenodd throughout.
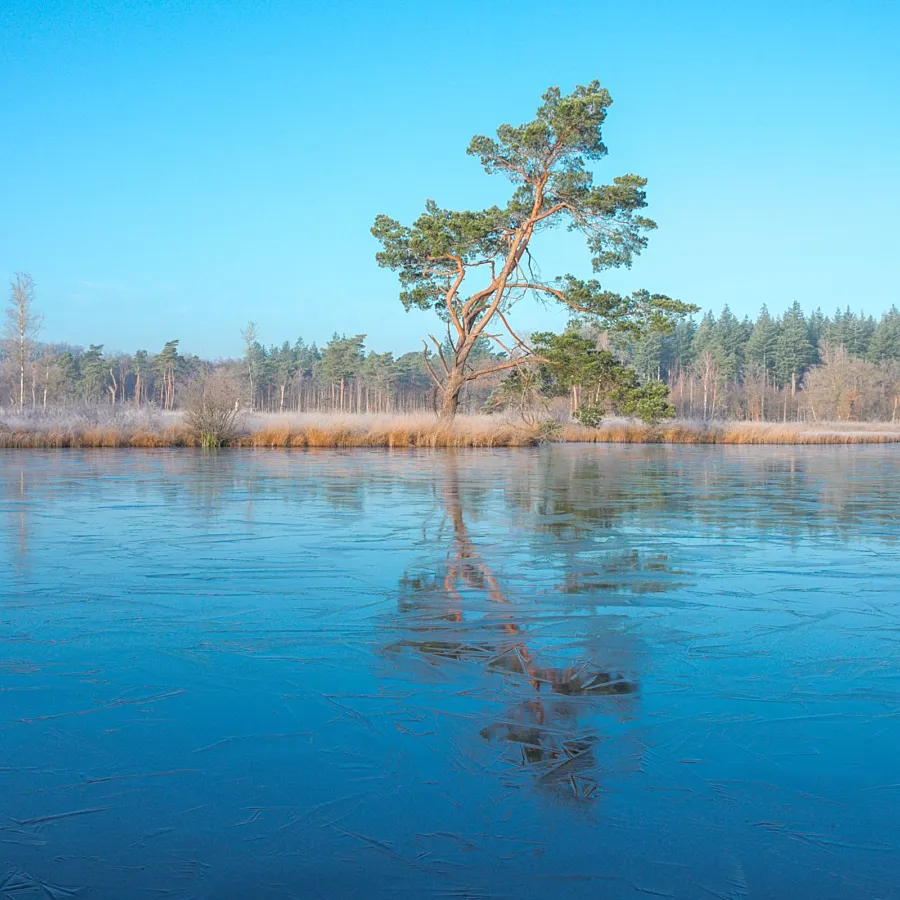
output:
<path id="1" fill-rule="evenodd" d="M 510 321 L 512 308 L 526 296 L 562 304 L 602 328 L 633 334 L 666 331 L 695 309 L 646 290 L 620 295 L 604 290 L 596 279 L 540 277 L 532 241 L 542 231 L 567 225 L 581 232 L 596 273 L 629 267 L 647 246 L 647 232 L 656 227 L 641 215 L 645 178 L 621 175 L 612 184 L 595 185 L 587 168 L 587 161 L 607 153 L 602 128 L 612 100 L 606 89 L 597 81 L 566 95 L 553 87 L 542 99 L 533 121 L 501 125 L 496 138 L 479 135 L 469 144 L 468 153 L 489 175 L 512 183 L 505 206 L 455 211 L 429 200 L 412 225 L 379 215 L 372 228 L 382 246 L 378 264 L 398 273 L 406 309 L 434 310 L 446 325 L 449 341 L 429 335 L 436 353 L 425 357 L 444 418 L 456 414 L 467 382 L 541 361 Z M 482 360 L 476 368 L 472 355 L 482 338 L 506 356 Z"/>

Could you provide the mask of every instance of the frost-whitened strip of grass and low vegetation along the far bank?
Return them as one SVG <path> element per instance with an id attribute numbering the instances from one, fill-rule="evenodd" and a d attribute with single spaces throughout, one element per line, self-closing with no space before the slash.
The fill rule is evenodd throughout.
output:
<path id="1" fill-rule="evenodd" d="M 568 417 L 526 422 L 518 415 L 434 413 L 262 413 L 238 417 L 207 437 L 190 413 L 112 406 L 0 410 L 0 448 L 102 447 L 528 447 L 548 441 L 677 444 L 843 444 L 900 441 L 900 424 L 673 420 L 611 417 L 587 427 Z"/>

